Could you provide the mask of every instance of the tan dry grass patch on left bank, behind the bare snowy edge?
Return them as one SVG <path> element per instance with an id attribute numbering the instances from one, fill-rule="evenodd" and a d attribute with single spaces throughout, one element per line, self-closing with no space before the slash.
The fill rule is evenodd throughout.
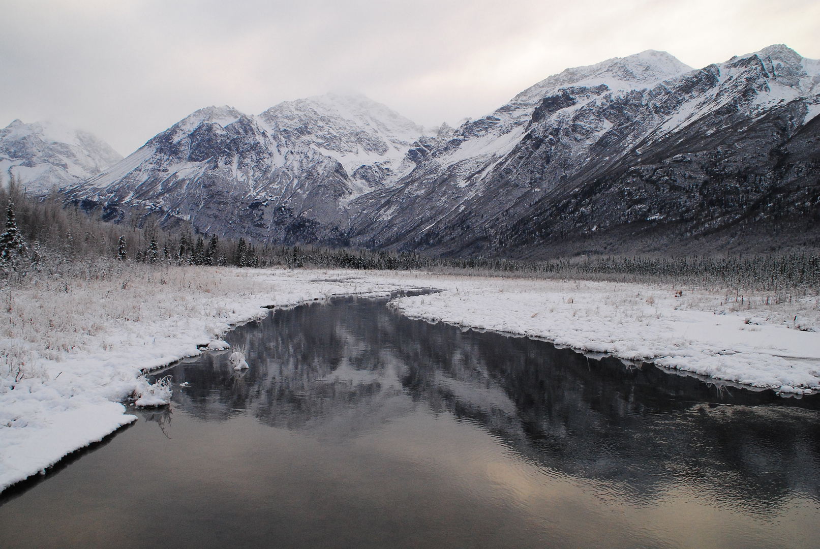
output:
<path id="1" fill-rule="evenodd" d="M 256 273 L 237 271 L 111 262 L 30 275 L 0 294 L 3 374 L 43 375 L 39 359 L 61 362 L 98 347 L 115 350 L 134 323 L 203 316 L 230 320 L 238 297 L 269 288 Z"/>

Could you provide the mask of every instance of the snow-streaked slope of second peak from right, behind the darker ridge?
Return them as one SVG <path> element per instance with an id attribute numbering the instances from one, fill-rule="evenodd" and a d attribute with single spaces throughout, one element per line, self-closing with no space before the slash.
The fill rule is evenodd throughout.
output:
<path id="1" fill-rule="evenodd" d="M 447 216 L 463 211 L 467 200 L 485 196 L 492 179 L 488 176 L 529 138 L 534 123 L 572 125 L 574 134 L 562 141 L 561 154 L 573 160 L 585 157 L 586 149 L 613 125 L 595 112 L 600 103 L 617 111 L 623 98 L 634 97 L 637 90 L 690 70 L 667 52 L 652 50 L 567 69 L 527 88 L 492 114 L 467 121 L 452 135 L 422 138 L 408 154 L 417 168 L 396 192 L 367 195 L 353 205 L 360 211 L 353 234 L 371 246 L 415 247 L 430 237 L 437 223 L 446 224 Z M 567 161 L 555 162 L 540 179 L 559 179 L 568 167 Z M 521 193 L 505 188 L 492 200 L 503 205 Z M 479 209 L 485 215 L 486 207 Z M 408 237 L 413 243 L 405 244 Z"/>

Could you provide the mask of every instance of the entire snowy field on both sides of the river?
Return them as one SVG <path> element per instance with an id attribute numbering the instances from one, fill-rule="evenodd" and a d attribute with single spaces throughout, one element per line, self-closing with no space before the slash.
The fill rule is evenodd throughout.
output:
<path id="1" fill-rule="evenodd" d="M 372 271 L 136 266 L 88 280 L 43 278 L 10 300 L 4 293 L 0 489 L 134 421 L 123 402 L 166 402 L 170 393 L 149 386 L 144 370 L 218 347 L 232 325 L 266 315 L 261 307 L 341 295 L 436 288 L 389 306 L 728 383 L 820 390 L 817 297 L 774 305 L 763 294 L 658 285 Z"/>

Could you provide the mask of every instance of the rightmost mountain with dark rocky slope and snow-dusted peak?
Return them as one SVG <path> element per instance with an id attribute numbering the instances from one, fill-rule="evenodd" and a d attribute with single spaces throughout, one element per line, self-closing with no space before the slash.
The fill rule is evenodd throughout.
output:
<path id="1" fill-rule="evenodd" d="M 535 205 L 510 208 L 514 220 L 496 243 L 594 237 L 581 246 L 602 252 L 608 231 L 681 242 L 731 230 L 767 251 L 810 244 L 820 203 L 818 84 L 818 62 L 785 46 L 664 83 L 651 97 L 668 112 L 662 124 L 626 151 L 596 149 L 594 157 L 620 155 L 604 169 L 590 163 Z"/>

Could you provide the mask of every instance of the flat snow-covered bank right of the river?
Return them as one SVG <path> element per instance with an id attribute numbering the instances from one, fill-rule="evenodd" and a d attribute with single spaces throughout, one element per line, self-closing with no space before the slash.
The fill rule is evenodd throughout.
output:
<path id="1" fill-rule="evenodd" d="M 466 279 L 390 306 L 412 318 L 545 338 L 757 388 L 820 389 L 816 300 L 752 311 L 749 298 L 763 300 L 744 296 L 741 305 L 734 294 L 642 284 Z"/>

